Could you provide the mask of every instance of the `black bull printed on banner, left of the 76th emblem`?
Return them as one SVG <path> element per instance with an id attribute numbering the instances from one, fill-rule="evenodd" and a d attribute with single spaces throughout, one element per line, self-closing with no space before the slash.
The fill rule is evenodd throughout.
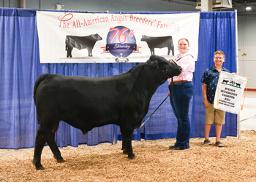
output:
<path id="1" fill-rule="evenodd" d="M 102 37 L 97 33 L 90 36 L 66 36 L 67 58 L 72 58 L 71 52 L 74 47 L 78 50 L 87 49 L 88 56 L 92 56 L 94 44 L 100 40 L 102 40 Z"/>

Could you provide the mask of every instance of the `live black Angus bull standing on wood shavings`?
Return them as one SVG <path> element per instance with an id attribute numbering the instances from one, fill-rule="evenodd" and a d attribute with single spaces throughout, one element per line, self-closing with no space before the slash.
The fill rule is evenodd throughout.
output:
<path id="1" fill-rule="evenodd" d="M 55 132 L 63 120 L 84 135 L 106 124 L 120 126 L 122 150 L 129 159 L 132 135 L 148 113 L 152 95 L 168 77 L 181 74 L 181 67 L 165 58 L 151 55 L 129 71 L 116 76 L 90 78 L 42 74 L 34 84 L 37 130 L 33 164 L 43 170 L 41 154 L 48 143 L 57 162 L 64 162 L 55 142 Z"/>

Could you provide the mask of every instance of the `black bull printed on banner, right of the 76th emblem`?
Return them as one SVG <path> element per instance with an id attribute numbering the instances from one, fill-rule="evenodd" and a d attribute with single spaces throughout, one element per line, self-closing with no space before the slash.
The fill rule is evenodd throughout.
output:
<path id="1" fill-rule="evenodd" d="M 145 36 L 143 35 L 140 41 L 146 41 L 150 49 L 151 55 L 154 55 L 154 48 L 167 47 L 167 55 L 170 55 L 170 50 L 174 55 L 173 37 L 172 36 Z"/>

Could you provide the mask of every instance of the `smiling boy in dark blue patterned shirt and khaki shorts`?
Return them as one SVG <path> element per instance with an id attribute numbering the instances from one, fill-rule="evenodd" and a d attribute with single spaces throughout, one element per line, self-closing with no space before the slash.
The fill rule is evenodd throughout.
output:
<path id="1" fill-rule="evenodd" d="M 214 52 L 215 65 L 206 69 L 200 82 L 203 83 L 203 106 L 206 108 L 205 119 L 205 141 L 204 143 L 211 145 L 209 140 L 209 133 L 211 130 L 211 124 L 215 122 L 216 129 L 216 146 L 222 147 L 223 143 L 220 142 L 220 134 L 222 132 L 222 124 L 225 124 L 225 111 L 214 108 L 214 95 L 219 81 L 219 72 L 229 70 L 222 66 L 225 62 L 225 55 L 222 51 Z"/>

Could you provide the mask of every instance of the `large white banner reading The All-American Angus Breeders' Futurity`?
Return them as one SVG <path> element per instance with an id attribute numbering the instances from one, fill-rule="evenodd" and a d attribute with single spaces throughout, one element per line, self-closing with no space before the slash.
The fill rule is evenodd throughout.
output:
<path id="1" fill-rule="evenodd" d="M 197 60 L 200 13 L 107 14 L 37 11 L 41 63 L 140 63 L 174 58 L 189 40 Z"/>

